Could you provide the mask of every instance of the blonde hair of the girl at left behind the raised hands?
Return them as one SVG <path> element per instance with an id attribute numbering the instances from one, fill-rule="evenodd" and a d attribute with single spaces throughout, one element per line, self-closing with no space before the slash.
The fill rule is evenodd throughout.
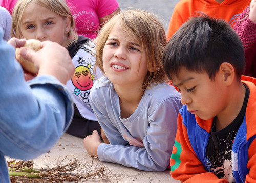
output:
<path id="1" fill-rule="evenodd" d="M 70 40 L 69 45 L 77 41 L 78 35 L 76 33 L 75 21 L 65 0 L 18 0 L 12 12 L 12 37 L 17 37 L 20 39 L 20 22 L 22 20 L 22 15 L 25 8 L 30 3 L 35 3 L 45 7 L 59 14 L 63 18 L 66 18 L 70 15 L 71 26 L 67 34 L 67 38 Z"/>

